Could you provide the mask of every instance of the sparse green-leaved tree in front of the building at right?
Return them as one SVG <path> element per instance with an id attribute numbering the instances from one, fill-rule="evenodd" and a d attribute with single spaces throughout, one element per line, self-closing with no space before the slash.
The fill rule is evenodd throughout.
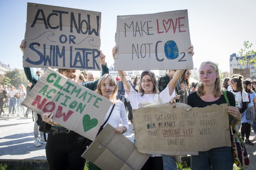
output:
<path id="1" fill-rule="evenodd" d="M 244 41 L 244 49 L 241 49 L 238 51 L 238 53 L 241 55 L 241 57 L 244 57 L 243 60 L 239 59 L 239 63 L 241 65 L 245 64 L 247 65 L 247 68 L 249 68 L 249 65 L 255 65 L 256 66 L 256 57 L 247 57 L 248 55 L 254 55 L 255 51 L 250 50 L 252 47 L 252 43 L 249 43 L 249 41 Z"/>

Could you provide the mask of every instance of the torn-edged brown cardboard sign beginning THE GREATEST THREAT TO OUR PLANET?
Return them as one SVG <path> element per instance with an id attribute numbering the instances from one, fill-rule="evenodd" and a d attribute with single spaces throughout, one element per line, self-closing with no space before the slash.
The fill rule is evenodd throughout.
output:
<path id="1" fill-rule="evenodd" d="M 172 105 L 133 109 L 139 152 L 186 155 L 231 146 L 227 104 L 205 108 L 191 108 L 183 103 L 175 103 L 176 108 Z"/>

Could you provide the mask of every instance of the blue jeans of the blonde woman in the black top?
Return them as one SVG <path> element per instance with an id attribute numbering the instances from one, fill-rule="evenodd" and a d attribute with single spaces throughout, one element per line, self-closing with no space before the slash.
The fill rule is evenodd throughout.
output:
<path id="1" fill-rule="evenodd" d="M 232 148 L 223 146 L 191 155 L 191 170 L 233 170 Z"/>

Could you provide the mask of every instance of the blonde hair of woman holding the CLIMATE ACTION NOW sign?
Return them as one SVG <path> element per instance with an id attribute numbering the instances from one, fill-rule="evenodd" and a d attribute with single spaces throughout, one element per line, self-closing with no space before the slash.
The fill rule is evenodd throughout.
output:
<path id="1" fill-rule="evenodd" d="M 111 76 L 110 74 L 104 74 L 103 76 L 101 76 L 101 78 L 99 79 L 98 85 L 97 85 L 96 92 L 102 96 L 101 86 L 103 83 L 105 83 L 106 79 L 108 79 L 109 84 L 114 85 L 114 91 L 111 94 L 111 101 L 113 101 L 113 103 L 116 103 L 116 95 L 117 95 L 116 79 L 114 79 L 114 77 Z"/>

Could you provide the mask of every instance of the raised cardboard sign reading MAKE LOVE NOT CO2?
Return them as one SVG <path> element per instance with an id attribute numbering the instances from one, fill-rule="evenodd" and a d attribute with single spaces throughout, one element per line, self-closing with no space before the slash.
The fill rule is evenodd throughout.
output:
<path id="1" fill-rule="evenodd" d="M 190 43 L 187 10 L 117 16 L 114 69 L 193 69 Z"/>

